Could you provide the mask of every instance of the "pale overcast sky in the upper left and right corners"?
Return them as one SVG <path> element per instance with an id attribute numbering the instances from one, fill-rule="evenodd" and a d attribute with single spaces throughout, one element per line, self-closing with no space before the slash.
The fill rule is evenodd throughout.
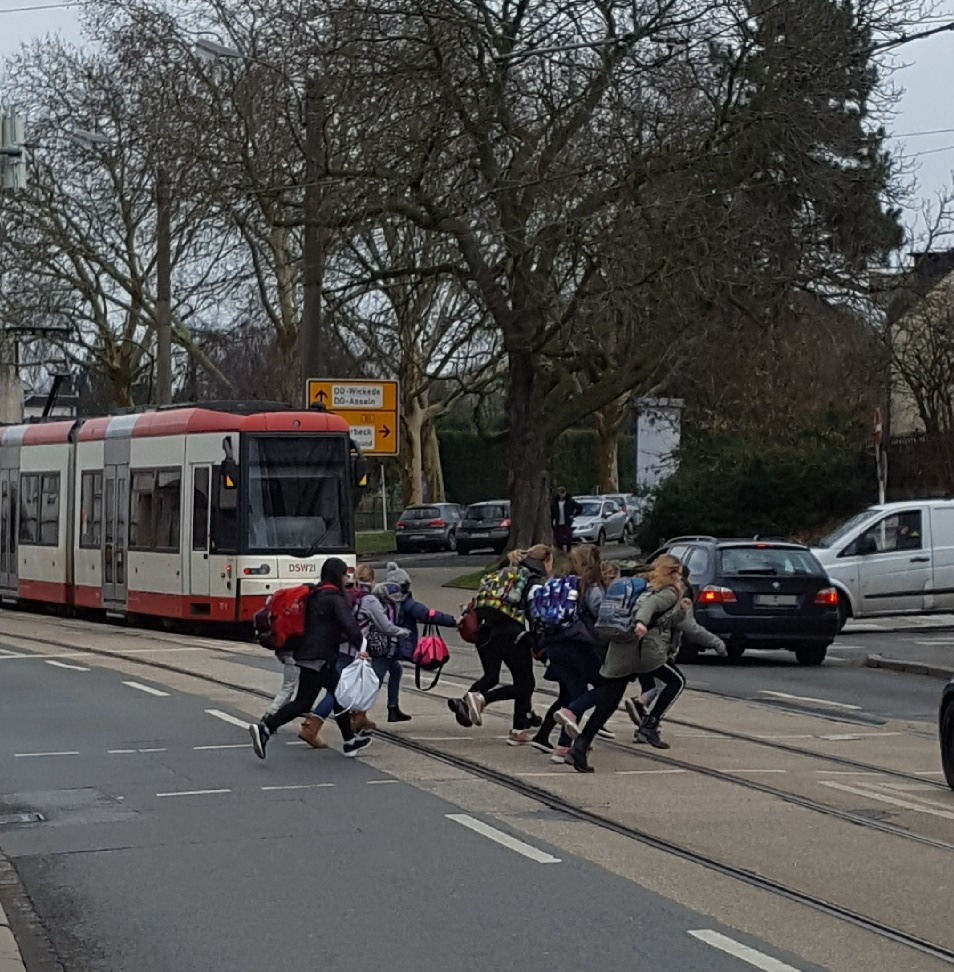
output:
<path id="1" fill-rule="evenodd" d="M 62 2 L 0 0 L 0 103 L 2 62 L 23 42 L 57 32 L 72 40 L 81 39 L 77 8 L 57 7 Z M 24 7 L 37 9 L 23 11 Z M 941 0 L 926 26 L 944 18 L 954 20 L 954 0 Z M 903 66 L 894 75 L 894 82 L 904 89 L 904 95 L 897 116 L 886 127 L 902 136 L 904 155 L 915 166 L 917 198 L 912 201 L 911 219 L 906 220 L 911 223 L 924 200 L 933 199 L 954 184 L 954 98 L 950 94 L 954 91 L 954 32 L 910 43 L 900 49 L 898 60 Z"/>

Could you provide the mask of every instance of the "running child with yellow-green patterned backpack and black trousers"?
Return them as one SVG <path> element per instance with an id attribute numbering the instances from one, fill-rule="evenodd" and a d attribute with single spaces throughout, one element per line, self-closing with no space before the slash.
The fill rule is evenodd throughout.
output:
<path id="1" fill-rule="evenodd" d="M 483 675 L 460 699 L 448 699 L 447 707 L 458 725 L 483 723 L 484 709 L 494 702 L 513 700 L 510 746 L 525 746 L 533 739 L 529 727 L 536 682 L 533 677 L 533 639 L 526 626 L 527 599 L 533 588 L 553 570 L 553 551 L 544 544 L 529 550 L 513 550 L 505 566 L 481 581 L 477 593 L 477 655 Z M 506 665 L 511 685 L 500 684 L 500 668 Z"/>

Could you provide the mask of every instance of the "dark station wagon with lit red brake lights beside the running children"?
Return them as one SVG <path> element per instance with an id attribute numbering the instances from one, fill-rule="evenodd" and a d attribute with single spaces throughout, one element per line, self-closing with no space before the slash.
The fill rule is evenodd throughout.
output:
<path id="1" fill-rule="evenodd" d="M 838 633 L 838 592 L 808 547 L 677 537 L 653 557 L 661 553 L 688 567 L 696 618 L 725 641 L 730 658 L 748 648 L 785 648 L 801 665 L 825 660 Z M 696 654 L 683 652 L 684 661 Z"/>

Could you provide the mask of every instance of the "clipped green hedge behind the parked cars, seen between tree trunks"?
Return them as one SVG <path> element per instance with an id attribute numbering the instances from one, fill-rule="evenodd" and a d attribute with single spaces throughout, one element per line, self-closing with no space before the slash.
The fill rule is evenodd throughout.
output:
<path id="1" fill-rule="evenodd" d="M 506 438 L 490 441 L 476 432 L 441 430 L 441 462 L 448 500 L 454 503 L 476 503 L 500 499 L 507 495 L 507 468 L 510 445 Z M 596 432 L 572 429 L 553 444 L 550 475 L 571 493 L 584 494 L 599 482 L 596 462 Z M 620 436 L 620 489 L 629 491 L 636 480 L 635 441 L 633 436 Z"/>

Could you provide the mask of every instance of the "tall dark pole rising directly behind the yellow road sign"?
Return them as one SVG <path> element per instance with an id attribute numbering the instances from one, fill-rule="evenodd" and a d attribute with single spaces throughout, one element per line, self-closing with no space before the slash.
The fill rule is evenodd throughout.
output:
<path id="1" fill-rule="evenodd" d="M 321 179 L 327 168 L 325 153 L 325 108 L 318 78 L 308 79 L 305 88 L 305 232 L 302 254 L 301 324 L 298 332 L 301 361 L 301 394 L 308 407 L 307 381 L 318 378 L 322 370 L 321 291 L 325 277 L 325 229 L 321 225 L 323 189 Z"/>

